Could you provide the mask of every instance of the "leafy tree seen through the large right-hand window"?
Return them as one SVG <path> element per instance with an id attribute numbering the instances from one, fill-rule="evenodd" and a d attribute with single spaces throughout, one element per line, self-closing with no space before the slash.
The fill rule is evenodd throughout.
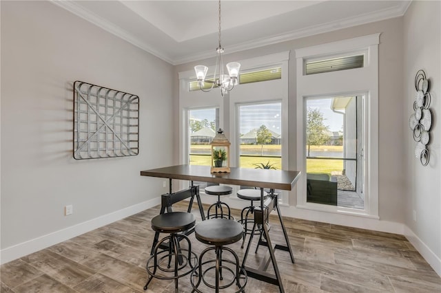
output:
<path id="1" fill-rule="evenodd" d="M 319 109 L 308 108 L 306 124 L 306 140 L 308 144 L 308 157 L 310 146 L 321 146 L 329 140 L 329 127 L 324 124 L 325 118 Z"/>

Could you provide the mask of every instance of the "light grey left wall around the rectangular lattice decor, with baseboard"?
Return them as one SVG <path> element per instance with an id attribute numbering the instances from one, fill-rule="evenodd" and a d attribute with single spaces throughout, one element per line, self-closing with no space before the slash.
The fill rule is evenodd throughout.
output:
<path id="1" fill-rule="evenodd" d="M 173 78 L 168 63 L 48 1 L 1 1 L 2 263 L 159 202 L 163 180 L 140 171 L 172 164 Z M 139 96 L 139 155 L 72 158 L 74 80 Z"/>

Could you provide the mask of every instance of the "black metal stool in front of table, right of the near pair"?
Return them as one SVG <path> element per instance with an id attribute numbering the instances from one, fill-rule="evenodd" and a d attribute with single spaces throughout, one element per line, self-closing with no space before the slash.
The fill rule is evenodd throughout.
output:
<path id="1" fill-rule="evenodd" d="M 201 281 L 209 288 L 212 288 L 215 290 L 216 293 L 219 292 L 219 290 L 225 289 L 234 283 L 236 283 L 236 286 L 238 287 L 237 292 L 245 292 L 245 285 L 247 285 L 247 273 L 243 268 L 240 268 L 239 265 L 239 259 L 231 248 L 225 247 L 228 244 L 235 243 L 239 241 L 242 238 L 243 234 L 243 227 L 236 221 L 228 221 L 226 219 L 207 219 L 205 221 L 202 221 L 201 223 L 197 224 L 194 228 L 194 235 L 198 241 L 201 241 L 202 243 L 212 245 L 212 247 L 205 248 L 198 259 L 198 265 L 196 268 L 194 268 L 192 277 L 190 278 L 190 283 L 192 283 L 193 292 L 196 291 L 198 293 L 207 292 L 205 289 L 204 291 L 198 290 L 198 286 L 201 285 Z M 216 253 L 216 259 L 210 259 L 203 262 L 204 255 L 214 250 Z M 229 259 L 225 259 L 222 257 L 223 252 L 230 252 L 232 256 L 234 257 L 234 261 L 231 261 Z M 206 265 L 207 263 L 215 263 L 214 265 L 209 266 L 205 270 L 203 270 L 203 265 Z M 231 263 L 234 265 L 234 270 L 230 267 L 232 265 L 225 265 L 225 263 Z M 207 272 L 210 270 L 215 270 L 214 276 L 215 276 L 215 284 L 209 283 L 207 281 Z M 223 272 L 225 270 L 231 277 L 228 278 L 226 281 L 224 281 Z M 243 274 L 242 277 L 240 277 L 240 274 Z M 197 282 L 195 284 L 195 279 L 197 279 Z M 242 281 L 242 282 L 240 282 Z"/>

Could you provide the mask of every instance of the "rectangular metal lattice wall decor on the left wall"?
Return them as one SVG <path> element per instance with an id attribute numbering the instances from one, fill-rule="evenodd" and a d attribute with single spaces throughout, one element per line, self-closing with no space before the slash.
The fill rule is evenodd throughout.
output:
<path id="1" fill-rule="evenodd" d="M 74 82 L 74 159 L 138 155 L 139 97 Z"/>

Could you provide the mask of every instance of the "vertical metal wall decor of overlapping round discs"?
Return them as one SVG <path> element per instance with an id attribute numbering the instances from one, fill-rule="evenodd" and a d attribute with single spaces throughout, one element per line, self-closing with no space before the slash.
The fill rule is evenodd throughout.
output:
<path id="1" fill-rule="evenodd" d="M 420 159 L 423 166 L 429 164 L 430 153 L 427 149 L 429 144 L 429 130 L 432 125 L 432 113 L 429 109 L 431 96 L 429 93 L 429 80 L 423 70 L 418 70 L 415 76 L 415 101 L 413 102 L 414 113 L 409 118 L 409 127 L 413 131 L 413 140 L 416 141 L 415 156 Z"/>

